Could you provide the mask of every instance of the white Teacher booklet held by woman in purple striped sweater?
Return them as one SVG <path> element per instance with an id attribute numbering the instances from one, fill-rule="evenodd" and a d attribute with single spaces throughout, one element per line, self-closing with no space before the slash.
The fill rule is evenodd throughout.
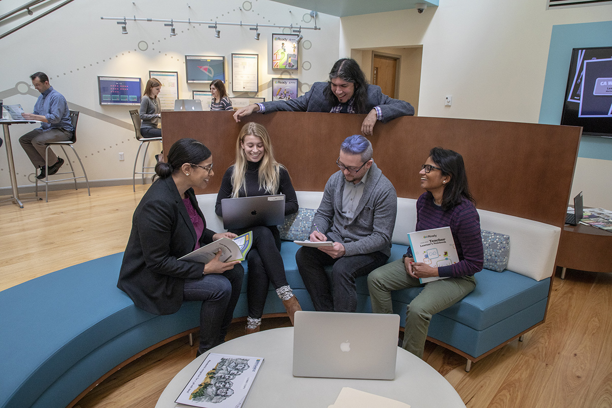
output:
<path id="1" fill-rule="evenodd" d="M 423 262 L 433 268 L 459 262 L 450 227 L 409 232 L 408 240 L 416 262 Z M 444 278 L 433 276 L 431 278 L 419 278 L 419 281 L 420 283 L 427 283 L 439 279 Z"/>

